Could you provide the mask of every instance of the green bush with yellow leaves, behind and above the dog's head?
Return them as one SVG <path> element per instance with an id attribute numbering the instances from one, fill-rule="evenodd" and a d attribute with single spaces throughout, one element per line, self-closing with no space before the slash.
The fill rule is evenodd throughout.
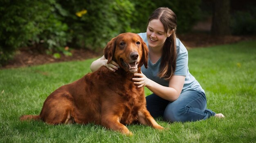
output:
<path id="1" fill-rule="evenodd" d="M 134 5 L 129 0 L 57 0 L 66 15 L 72 44 L 82 48 L 104 48 L 121 32 L 133 31 Z"/>

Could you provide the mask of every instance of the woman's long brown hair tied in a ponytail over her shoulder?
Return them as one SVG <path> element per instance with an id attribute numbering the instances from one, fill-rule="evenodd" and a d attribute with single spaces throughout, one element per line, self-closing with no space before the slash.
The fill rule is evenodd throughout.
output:
<path id="1" fill-rule="evenodd" d="M 171 36 L 167 37 L 162 48 L 162 60 L 158 76 L 169 80 L 173 76 L 176 68 L 176 27 L 177 17 L 175 13 L 167 7 L 160 7 L 156 9 L 148 18 L 148 23 L 151 20 L 160 20 L 164 25 L 164 32 L 168 34 L 173 30 Z"/>

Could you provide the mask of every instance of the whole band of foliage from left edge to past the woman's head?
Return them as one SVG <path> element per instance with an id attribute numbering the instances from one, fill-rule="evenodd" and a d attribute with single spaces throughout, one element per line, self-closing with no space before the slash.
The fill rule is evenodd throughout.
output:
<path id="1" fill-rule="evenodd" d="M 197 20 L 199 4 L 200 0 L 2 0 L 0 66 L 24 46 L 43 46 L 48 54 L 66 52 L 67 45 L 104 48 L 122 32 L 145 32 L 148 16 L 160 6 L 173 9 L 178 32 L 186 32 Z"/>

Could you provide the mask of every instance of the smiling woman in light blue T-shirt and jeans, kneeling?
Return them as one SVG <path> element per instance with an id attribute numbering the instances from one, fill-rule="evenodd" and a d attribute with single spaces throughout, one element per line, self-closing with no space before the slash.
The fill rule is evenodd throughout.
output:
<path id="1" fill-rule="evenodd" d="M 146 33 L 139 33 L 148 45 L 148 68 L 141 67 L 135 74 L 134 84 L 147 87 L 153 94 L 146 97 L 147 109 L 153 117 L 164 117 L 166 121 L 197 121 L 208 117 L 224 117 L 206 109 L 205 92 L 189 73 L 188 52 L 175 31 L 177 17 L 171 9 L 158 8 L 148 19 Z M 91 70 L 102 65 L 115 72 L 114 61 L 107 64 L 104 56 L 94 61 Z"/>

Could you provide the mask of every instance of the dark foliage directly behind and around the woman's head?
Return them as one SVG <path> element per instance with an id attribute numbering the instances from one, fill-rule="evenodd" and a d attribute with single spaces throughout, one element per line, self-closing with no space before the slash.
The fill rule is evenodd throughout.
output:
<path id="1" fill-rule="evenodd" d="M 132 0 L 136 13 L 133 26 L 145 32 L 149 15 L 158 7 L 168 7 L 177 16 L 177 32 L 189 32 L 200 18 L 201 0 Z"/>

